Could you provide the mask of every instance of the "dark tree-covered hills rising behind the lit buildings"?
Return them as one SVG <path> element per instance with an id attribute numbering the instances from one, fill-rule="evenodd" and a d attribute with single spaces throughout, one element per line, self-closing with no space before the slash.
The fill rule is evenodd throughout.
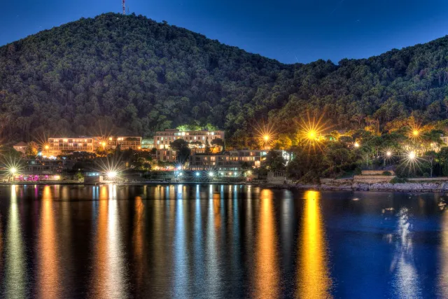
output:
<path id="1" fill-rule="evenodd" d="M 447 118 L 448 39 L 367 60 L 281 64 L 144 16 L 107 13 L 0 48 L 3 139 L 151 136 L 211 123 L 238 136 L 325 113 L 335 128 Z M 367 116 L 367 117 L 366 117 Z"/>

